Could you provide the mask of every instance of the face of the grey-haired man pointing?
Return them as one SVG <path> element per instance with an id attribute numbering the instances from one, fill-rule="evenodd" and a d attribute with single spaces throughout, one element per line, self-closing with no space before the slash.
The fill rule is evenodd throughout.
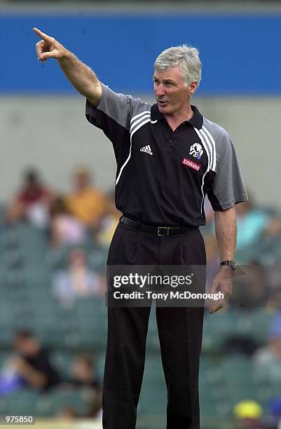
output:
<path id="1" fill-rule="evenodd" d="M 179 66 L 155 70 L 153 81 L 158 108 L 167 116 L 184 109 L 197 87 L 197 82 L 191 85 L 184 83 L 184 76 Z"/>

